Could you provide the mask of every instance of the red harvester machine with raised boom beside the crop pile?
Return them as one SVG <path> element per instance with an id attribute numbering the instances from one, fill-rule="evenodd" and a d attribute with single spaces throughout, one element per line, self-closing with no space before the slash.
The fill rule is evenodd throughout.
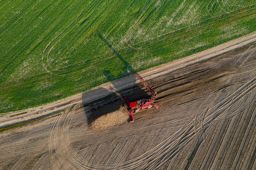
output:
<path id="1" fill-rule="evenodd" d="M 134 112 L 138 112 L 142 109 L 149 109 L 153 106 L 156 109 L 158 109 L 158 107 L 160 107 L 158 104 L 154 103 L 154 99 L 157 96 L 157 92 L 154 91 L 153 89 L 151 89 L 151 87 L 147 84 L 147 82 L 138 73 L 136 73 L 135 76 L 143 83 L 143 85 L 148 89 L 148 91 L 152 93 L 152 96 L 149 99 L 142 99 L 140 101 L 134 101 L 134 102 L 130 102 L 128 100 L 128 98 L 125 97 L 127 100 L 128 107 L 130 108 L 129 112 L 125 111 L 129 115 L 131 115 L 131 121 L 129 121 L 129 122 L 134 121 L 134 116 L 133 116 Z"/>

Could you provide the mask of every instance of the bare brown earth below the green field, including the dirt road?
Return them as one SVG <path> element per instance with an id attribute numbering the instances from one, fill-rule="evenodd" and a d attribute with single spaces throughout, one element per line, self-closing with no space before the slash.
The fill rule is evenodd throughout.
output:
<path id="1" fill-rule="evenodd" d="M 120 115 L 121 97 L 146 96 L 141 84 L 83 107 L 132 86 L 134 76 L 3 115 L 0 126 L 63 110 L 0 133 L 0 169 L 256 169 L 253 42 L 256 34 L 141 72 L 161 107 L 137 112 L 134 123 Z"/>

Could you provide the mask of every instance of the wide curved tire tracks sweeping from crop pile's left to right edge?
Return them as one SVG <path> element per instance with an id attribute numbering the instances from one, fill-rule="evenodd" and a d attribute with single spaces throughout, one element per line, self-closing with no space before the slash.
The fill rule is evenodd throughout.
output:
<path id="1" fill-rule="evenodd" d="M 232 95 L 230 95 L 229 97 L 227 97 L 226 99 L 224 99 L 223 101 L 221 101 L 221 103 L 219 103 L 219 104 L 217 104 L 215 107 L 213 107 L 213 108 L 211 108 L 211 109 L 209 109 L 209 112 L 214 112 L 214 111 L 216 111 L 217 113 L 215 113 L 214 114 L 214 116 L 209 116 L 209 118 L 207 118 L 206 120 L 206 123 L 205 124 L 210 124 L 211 122 L 212 122 L 212 120 L 214 120 L 215 118 L 217 118 L 218 117 L 218 115 L 220 115 L 220 112 L 223 110 L 223 109 L 226 109 L 227 107 L 230 107 L 230 105 L 232 105 L 232 104 L 234 104 L 234 102 L 235 101 L 237 101 L 239 98 L 241 98 L 241 96 L 244 96 L 247 92 L 249 92 L 250 90 L 252 90 L 253 88 L 255 88 L 256 87 L 256 84 L 255 84 L 255 81 L 256 81 L 256 78 L 253 78 L 252 80 L 250 80 L 247 84 L 245 84 L 245 85 L 243 85 L 243 86 L 241 86 L 236 92 L 234 92 Z M 253 84 L 254 83 L 254 84 Z M 249 88 L 248 88 L 249 87 Z M 238 97 L 236 97 L 236 99 L 233 99 L 233 97 L 235 96 L 235 95 L 238 95 Z M 231 99 L 231 101 L 230 101 L 230 99 Z M 233 99 L 233 100 L 232 100 Z M 227 102 L 227 101 L 229 101 L 229 102 Z M 79 104 L 77 104 L 75 107 L 74 107 L 74 109 L 75 108 L 78 108 L 78 107 L 80 107 L 80 105 Z M 73 110 L 74 110 L 73 109 Z M 214 110 L 215 109 L 215 110 Z M 74 112 L 74 111 L 72 111 L 72 112 Z M 71 115 L 70 113 L 72 113 L 72 112 L 67 112 L 66 114 L 64 114 L 64 115 L 67 115 L 69 118 L 72 118 L 72 116 L 73 115 Z M 75 113 L 75 112 L 74 112 Z M 73 113 L 73 114 L 74 114 Z M 211 114 L 209 114 L 209 115 L 211 115 Z M 64 116 L 63 116 L 64 117 Z M 58 120 L 58 119 L 57 119 Z M 68 126 L 69 126 L 69 122 L 70 122 L 70 120 L 68 120 L 67 118 L 62 118 L 62 120 L 64 120 L 65 122 L 63 122 L 63 123 L 61 123 L 61 124 L 64 124 L 65 126 L 64 126 L 64 130 L 67 130 L 65 133 L 61 133 L 61 134 L 63 134 L 64 135 L 64 139 L 63 139 L 63 141 L 66 141 L 66 142 L 64 142 L 65 144 L 67 143 L 67 141 L 68 141 Z M 189 121 L 187 124 L 191 124 L 191 121 Z M 157 147 L 155 147 L 154 149 L 152 149 L 152 150 L 150 150 L 149 152 L 147 152 L 147 154 L 145 155 L 145 154 L 143 154 L 142 156 L 139 156 L 138 158 L 139 158 L 139 160 L 138 160 L 138 158 L 135 158 L 134 160 L 132 160 L 132 161 L 128 161 L 126 164 L 114 164 L 114 165 L 107 165 L 107 166 L 104 166 L 104 165 L 98 165 L 98 164 L 92 164 L 92 163 L 90 163 L 90 162 L 86 162 L 86 161 L 84 161 L 83 162 L 83 160 L 80 160 L 79 162 L 78 161 L 76 161 L 76 160 L 78 160 L 80 157 L 76 154 L 76 153 L 70 153 L 70 156 L 75 156 L 75 159 L 74 160 L 70 160 L 70 163 L 74 166 L 75 164 L 77 164 L 77 163 L 80 163 L 80 162 L 82 162 L 85 166 L 90 166 L 90 167 L 95 167 L 95 168 L 111 168 L 111 169 L 113 169 L 113 168 L 118 168 L 119 166 L 120 167 L 122 167 L 122 168 L 126 168 L 126 166 L 127 166 L 127 164 L 129 164 L 128 165 L 128 167 L 133 167 L 133 168 L 136 168 L 137 167 L 137 164 L 138 164 L 138 162 L 137 161 L 141 161 L 142 159 L 144 160 L 144 161 L 147 161 L 147 163 L 146 164 L 141 164 L 141 166 L 140 166 L 140 168 L 152 168 L 152 167 L 154 167 L 155 165 L 157 165 L 157 163 L 159 163 L 159 161 L 160 160 L 162 160 L 163 158 L 165 158 L 166 157 L 166 155 L 167 155 L 167 153 L 169 153 L 171 150 L 173 150 L 174 148 L 172 148 L 171 146 L 175 146 L 175 147 L 179 147 L 180 149 L 181 148 L 183 148 L 184 146 L 185 146 L 185 144 L 184 144 L 184 142 L 186 142 L 186 144 L 187 143 L 189 143 L 188 141 L 191 141 L 191 139 L 192 139 L 192 137 L 194 137 L 195 136 L 195 133 L 189 133 L 189 131 L 192 129 L 192 127 L 193 127 L 193 125 L 190 125 L 189 126 L 189 129 L 187 130 L 187 131 L 183 131 L 183 128 L 181 128 L 181 132 L 179 132 L 179 135 L 177 135 L 177 133 L 176 133 L 176 135 L 174 135 L 175 136 L 175 138 L 176 139 L 179 139 L 179 137 L 184 137 L 183 135 L 186 135 L 186 138 L 188 139 L 188 140 L 183 140 L 183 142 L 181 142 L 180 143 L 180 141 L 179 140 L 174 140 L 174 141 L 172 141 L 172 140 L 170 140 L 170 139 L 172 139 L 173 138 L 173 136 L 170 138 L 168 138 L 168 140 L 166 140 L 165 142 L 166 142 L 166 144 L 163 144 L 163 143 L 161 143 L 159 146 L 157 146 Z M 62 129 L 62 128 L 58 128 L 58 129 Z M 183 131 L 183 133 L 182 133 L 182 131 Z M 59 137 L 62 137 L 62 136 L 59 136 Z M 172 141 L 172 142 L 171 142 Z M 170 142 L 170 143 L 169 143 Z M 71 151 L 72 152 L 72 148 L 68 148 L 68 147 L 70 147 L 70 145 L 66 145 L 64 148 L 63 148 L 63 150 L 69 150 L 69 151 Z M 169 149 L 169 148 L 172 148 L 171 150 Z M 179 149 L 179 151 L 180 151 L 180 149 Z M 175 153 L 177 153 L 177 151 L 175 152 Z M 170 157 L 169 157 L 170 158 Z M 167 158 L 166 160 L 169 160 L 169 158 Z M 149 161 L 148 161 L 149 160 Z M 165 161 L 163 161 L 163 163 L 166 163 L 166 160 Z M 161 166 L 163 165 L 163 163 L 162 164 L 160 164 Z M 148 165 L 148 164 L 150 164 L 150 165 Z M 78 165 L 76 165 L 76 166 L 74 166 L 75 168 L 79 168 L 80 166 L 81 167 L 84 167 L 84 165 L 82 165 L 82 164 L 78 164 Z M 157 166 L 157 167 L 159 167 L 159 166 Z"/>

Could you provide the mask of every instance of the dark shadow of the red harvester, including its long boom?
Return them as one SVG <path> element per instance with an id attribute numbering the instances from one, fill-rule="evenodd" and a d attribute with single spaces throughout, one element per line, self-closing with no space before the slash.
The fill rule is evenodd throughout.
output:
<path id="1" fill-rule="evenodd" d="M 105 92 L 107 91 L 108 95 L 107 96 L 102 96 L 102 98 L 97 97 L 96 100 L 92 104 L 87 105 L 87 93 L 85 92 L 82 95 L 82 100 L 84 105 L 84 112 L 87 117 L 87 123 L 90 125 L 95 121 L 97 118 L 107 115 L 108 113 L 115 112 L 117 110 L 120 110 L 121 107 L 126 107 L 126 110 L 128 110 L 127 105 L 125 104 L 127 99 L 130 102 L 132 101 L 137 101 L 143 98 L 149 98 L 150 95 L 145 91 L 145 87 L 142 86 L 137 86 L 136 85 L 136 77 L 134 75 L 135 70 L 132 68 L 132 66 L 125 61 L 124 58 L 116 51 L 116 49 L 113 48 L 113 46 L 100 34 L 97 34 L 97 36 L 105 43 L 111 51 L 116 55 L 117 58 L 119 58 L 120 61 L 124 64 L 123 67 L 123 72 L 122 76 L 127 76 L 125 78 L 117 79 L 115 78 L 110 70 L 104 70 L 103 74 L 105 77 L 108 79 L 108 81 L 111 83 L 109 86 L 109 89 L 104 89 L 102 87 L 90 90 L 90 94 L 106 94 Z M 127 81 L 122 81 L 122 80 L 129 80 Z M 125 82 L 125 84 L 122 82 Z M 127 84 L 130 84 L 128 86 L 125 86 Z M 129 89 L 125 89 L 125 87 L 131 87 Z M 122 112 L 125 113 L 125 110 L 122 110 Z M 125 113 L 127 114 L 127 113 Z M 111 121 L 111 120 L 109 120 Z M 127 120 L 129 121 L 129 120 Z"/>

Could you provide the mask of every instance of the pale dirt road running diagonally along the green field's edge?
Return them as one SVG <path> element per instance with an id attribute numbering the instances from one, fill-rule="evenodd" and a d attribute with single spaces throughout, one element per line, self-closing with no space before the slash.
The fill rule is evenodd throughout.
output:
<path id="1" fill-rule="evenodd" d="M 237 49 L 239 47 L 248 45 L 255 41 L 256 41 L 256 33 L 247 35 L 245 37 L 241 37 L 237 40 L 233 40 L 225 44 L 221 44 L 219 46 L 216 46 L 204 52 L 200 52 L 195 55 L 191 55 L 189 57 L 182 58 L 180 60 L 177 60 L 171 63 L 166 63 L 161 66 L 157 66 L 157 67 L 145 70 L 143 72 L 140 72 L 140 75 L 146 81 L 148 81 L 148 80 L 157 78 L 161 75 L 165 75 L 169 72 L 174 72 L 179 69 L 186 68 L 187 66 L 192 66 L 192 65 L 195 65 L 196 63 L 207 61 L 210 58 L 214 58 L 218 55 L 221 55 L 226 52 Z M 35 108 L 3 114 L 3 115 L 0 115 L 0 127 L 6 127 L 8 125 L 32 120 L 45 115 L 51 115 L 55 112 L 60 112 L 64 109 L 67 109 L 67 107 L 69 107 L 70 105 L 74 106 L 75 104 L 78 104 L 81 101 L 83 102 L 83 104 L 85 104 L 87 102 L 96 100 L 98 98 L 102 98 L 113 92 L 129 88 L 136 83 L 138 83 L 138 81 L 136 81 L 134 76 L 131 75 L 126 78 L 113 81 L 111 83 L 103 84 L 102 86 L 98 86 L 88 92 L 74 95 L 70 98 L 66 98 L 61 101 L 57 101 L 44 106 L 39 106 Z"/>

